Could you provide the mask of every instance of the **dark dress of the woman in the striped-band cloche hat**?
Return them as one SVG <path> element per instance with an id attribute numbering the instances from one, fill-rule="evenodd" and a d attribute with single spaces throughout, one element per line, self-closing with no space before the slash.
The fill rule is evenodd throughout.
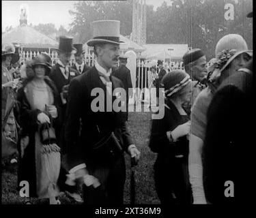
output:
<path id="1" fill-rule="evenodd" d="M 188 116 L 180 115 L 171 101 L 165 102 L 163 119 L 152 121 L 150 149 L 158 153 L 154 163 L 154 180 L 162 204 L 190 204 L 191 189 L 188 180 L 188 140 L 182 136 L 169 142 L 167 131 L 186 123 Z M 183 155 L 183 157 L 175 157 Z M 175 194 L 176 199 L 173 198 Z"/>

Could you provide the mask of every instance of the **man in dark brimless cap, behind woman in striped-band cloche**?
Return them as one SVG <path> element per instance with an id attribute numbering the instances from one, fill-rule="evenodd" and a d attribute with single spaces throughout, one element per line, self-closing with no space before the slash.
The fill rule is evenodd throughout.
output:
<path id="1" fill-rule="evenodd" d="M 185 53 L 183 56 L 183 63 L 186 73 L 191 76 L 193 82 L 193 105 L 197 95 L 205 88 L 203 81 L 207 76 L 206 56 L 203 54 L 201 49 L 194 48 Z"/>

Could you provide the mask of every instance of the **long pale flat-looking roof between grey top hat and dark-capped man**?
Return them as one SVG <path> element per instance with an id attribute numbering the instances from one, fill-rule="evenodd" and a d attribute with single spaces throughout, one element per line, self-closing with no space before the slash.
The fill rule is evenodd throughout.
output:
<path id="1" fill-rule="evenodd" d="M 182 59 L 188 44 L 145 44 L 141 57 L 145 59 Z"/>

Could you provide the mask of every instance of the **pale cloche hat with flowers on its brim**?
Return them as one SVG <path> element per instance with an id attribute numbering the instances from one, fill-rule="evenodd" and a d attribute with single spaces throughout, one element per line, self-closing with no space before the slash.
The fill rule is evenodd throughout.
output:
<path id="1" fill-rule="evenodd" d="M 210 79 L 221 75 L 224 69 L 235 59 L 238 55 L 247 53 L 252 56 L 253 51 L 248 50 L 248 46 L 241 35 L 228 34 L 221 38 L 216 44 L 215 57 L 217 59 L 218 67 L 210 76 Z"/>

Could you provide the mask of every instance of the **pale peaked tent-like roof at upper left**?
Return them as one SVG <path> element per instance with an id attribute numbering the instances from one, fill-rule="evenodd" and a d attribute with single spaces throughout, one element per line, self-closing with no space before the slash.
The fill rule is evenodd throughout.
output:
<path id="1" fill-rule="evenodd" d="M 7 33 L 3 33 L 2 43 L 14 42 L 20 44 L 21 47 L 27 48 L 57 48 L 59 44 L 51 37 L 48 37 L 25 24 L 11 29 Z"/>

